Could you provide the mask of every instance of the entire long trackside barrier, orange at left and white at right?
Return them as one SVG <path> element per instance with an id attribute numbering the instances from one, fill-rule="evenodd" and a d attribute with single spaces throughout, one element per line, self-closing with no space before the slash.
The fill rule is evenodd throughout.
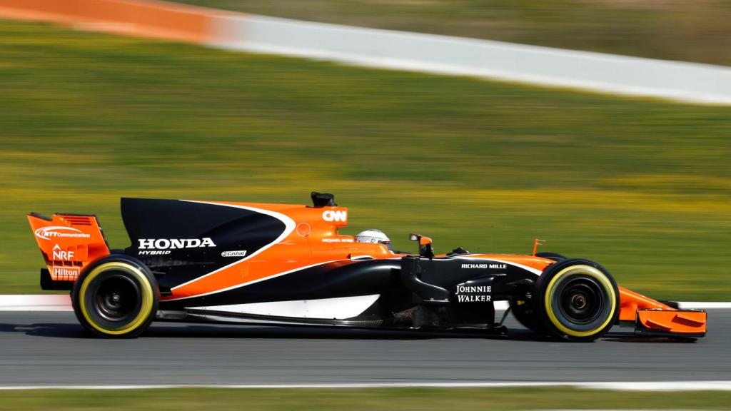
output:
<path id="1" fill-rule="evenodd" d="M 0 0 L 0 17 L 386 69 L 731 105 L 731 67 L 364 29 L 148 0 Z"/>

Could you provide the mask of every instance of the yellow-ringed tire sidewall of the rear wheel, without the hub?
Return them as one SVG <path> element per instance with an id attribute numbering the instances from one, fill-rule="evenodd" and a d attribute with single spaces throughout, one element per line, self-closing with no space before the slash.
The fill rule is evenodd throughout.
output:
<path id="1" fill-rule="evenodd" d="M 86 306 L 85 302 L 85 294 L 91 292 L 88 286 L 94 282 L 94 279 L 104 276 L 105 273 L 111 270 L 126 271 L 125 274 L 134 279 L 139 285 L 141 290 L 140 298 L 142 299 L 140 312 L 137 312 L 132 320 L 116 329 L 105 328 L 102 324 L 97 323 L 94 320 L 95 315 L 89 312 L 89 307 Z M 74 283 L 71 300 L 79 323 L 95 336 L 135 338 L 140 336 L 154 320 L 154 314 L 159 306 L 159 288 L 155 276 L 140 260 L 126 254 L 111 254 L 94 261 L 94 263 L 84 268 Z"/>

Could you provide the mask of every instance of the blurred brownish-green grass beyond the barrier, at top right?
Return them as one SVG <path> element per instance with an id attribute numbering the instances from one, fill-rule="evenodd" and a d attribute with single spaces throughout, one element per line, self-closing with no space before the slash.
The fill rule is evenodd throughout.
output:
<path id="1" fill-rule="evenodd" d="M 731 65 L 725 0 L 177 0 L 354 26 Z"/>

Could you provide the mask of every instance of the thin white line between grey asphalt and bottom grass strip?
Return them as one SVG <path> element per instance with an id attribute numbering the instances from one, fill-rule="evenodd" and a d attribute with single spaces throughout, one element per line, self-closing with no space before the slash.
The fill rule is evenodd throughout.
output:
<path id="1" fill-rule="evenodd" d="M 151 390 L 164 388 L 521 388 L 573 387 L 612 391 L 731 391 L 731 381 L 657 382 L 383 382 L 354 384 L 226 384 L 226 385 L 4 385 L 3 390 Z"/>

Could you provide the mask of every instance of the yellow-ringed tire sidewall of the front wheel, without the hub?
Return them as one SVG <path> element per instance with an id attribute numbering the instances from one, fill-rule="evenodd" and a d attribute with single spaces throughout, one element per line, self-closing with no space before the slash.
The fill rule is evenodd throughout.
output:
<path id="1" fill-rule="evenodd" d="M 561 324 L 558 319 L 556 319 L 556 323 L 554 323 L 554 320 L 551 320 L 550 318 L 551 313 L 548 312 L 550 307 L 547 307 L 547 305 L 550 305 L 550 302 L 546 301 L 547 298 L 550 297 L 551 290 L 549 290 L 549 287 L 554 287 L 554 285 L 552 284 L 553 279 L 555 279 L 558 274 L 561 274 L 565 270 L 567 270 L 567 268 L 572 268 L 578 265 L 586 265 L 590 268 L 596 269 L 596 271 L 602 274 L 602 277 L 607 280 L 607 284 L 610 285 L 611 290 L 614 293 L 613 312 L 611 312 L 608 316 L 608 320 L 605 320 L 606 322 L 602 321 L 601 328 L 591 331 L 567 330 L 567 326 Z M 556 283 L 556 285 L 557 284 L 558 283 Z M 560 339 L 573 342 L 591 342 L 603 336 L 607 331 L 609 331 L 610 328 L 612 328 L 612 326 L 617 321 L 620 307 L 619 290 L 617 283 L 614 280 L 613 276 L 609 273 L 609 271 L 602 267 L 602 265 L 594 263 L 591 260 L 573 258 L 569 260 L 561 260 L 556 264 L 550 265 L 548 268 L 546 268 L 546 271 L 541 274 L 541 276 L 539 276 L 536 288 L 538 290 L 538 298 L 536 299 L 535 309 L 539 314 L 540 323 L 546 330 L 550 331 L 553 336 L 556 336 Z M 553 313 L 553 317 L 556 318 L 557 314 Z M 604 318 L 607 317 L 605 316 Z"/>

